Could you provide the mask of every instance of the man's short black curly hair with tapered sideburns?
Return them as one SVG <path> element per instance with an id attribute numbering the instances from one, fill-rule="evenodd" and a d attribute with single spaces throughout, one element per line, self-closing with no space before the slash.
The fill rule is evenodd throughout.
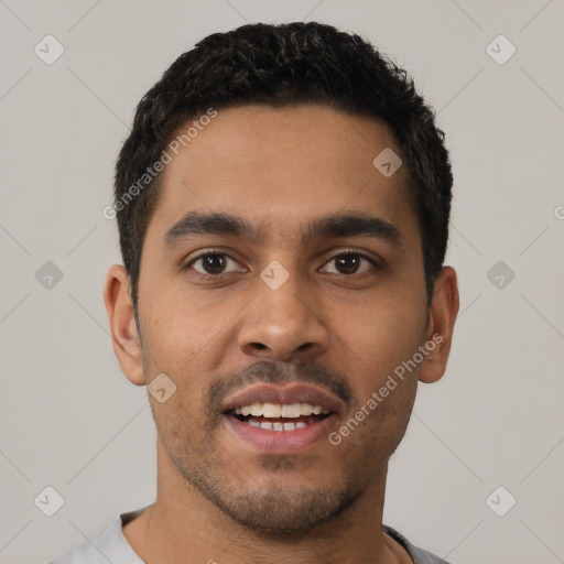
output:
<path id="1" fill-rule="evenodd" d="M 391 128 L 409 172 L 431 302 L 446 252 L 453 185 L 435 112 L 408 73 L 359 35 L 317 22 L 254 23 L 204 37 L 139 102 L 117 160 L 113 192 L 135 318 L 143 239 L 161 192 L 161 175 L 147 177 L 147 172 L 178 127 L 209 108 L 303 102 L 376 118 Z M 143 175 L 147 186 L 139 185 Z"/>

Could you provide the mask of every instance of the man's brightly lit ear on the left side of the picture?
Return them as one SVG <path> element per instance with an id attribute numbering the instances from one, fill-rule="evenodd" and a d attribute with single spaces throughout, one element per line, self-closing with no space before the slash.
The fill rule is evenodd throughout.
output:
<path id="1" fill-rule="evenodd" d="M 129 275 L 113 264 L 106 276 L 104 302 L 110 321 L 111 341 L 121 371 L 137 386 L 145 384 L 141 339 L 137 330 Z"/>

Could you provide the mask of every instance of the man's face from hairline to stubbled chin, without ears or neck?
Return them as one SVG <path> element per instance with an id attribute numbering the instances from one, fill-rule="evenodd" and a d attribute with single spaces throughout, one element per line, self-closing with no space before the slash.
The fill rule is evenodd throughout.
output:
<path id="1" fill-rule="evenodd" d="M 372 164 L 387 148 L 401 154 L 376 120 L 248 106 L 219 110 L 162 173 L 139 282 L 144 379 L 176 387 L 149 395 L 160 471 L 247 527 L 339 514 L 405 431 L 429 359 L 367 402 L 437 324 L 405 166 Z"/>

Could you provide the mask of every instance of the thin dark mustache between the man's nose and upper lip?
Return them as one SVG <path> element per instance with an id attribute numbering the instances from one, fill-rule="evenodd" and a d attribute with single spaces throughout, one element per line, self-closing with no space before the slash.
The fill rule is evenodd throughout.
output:
<path id="1" fill-rule="evenodd" d="M 219 411 L 225 398 L 231 392 L 242 390 L 259 382 L 279 384 L 289 382 L 312 383 L 329 389 L 347 405 L 350 404 L 352 399 L 352 390 L 347 382 L 346 376 L 338 370 L 329 369 L 312 361 L 279 365 L 261 360 L 237 372 L 217 376 L 212 381 L 207 397 L 207 404 L 212 408 L 212 413 Z"/>

